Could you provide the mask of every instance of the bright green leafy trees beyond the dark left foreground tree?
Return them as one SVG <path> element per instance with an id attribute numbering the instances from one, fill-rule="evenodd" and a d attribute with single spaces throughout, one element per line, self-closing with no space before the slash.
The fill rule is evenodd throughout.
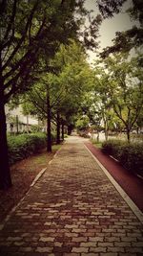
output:
<path id="1" fill-rule="evenodd" d="M 90 68 L 81 45 L 72 40 L 70 42 L 68 46 L 61 45 L 51 59 L 52 66 L 57 70 L 56 74 L 42 74 L 27 93 L 30 110 L 35 109 L 40 117 L 48 121 L 48 151 L 51 151 L 51 121 L 56 122 L 56 142 L 59 143 L 60 125 L 69 123 L 67 116 L 77 112 L 85 88 L 85 74 Z"/>

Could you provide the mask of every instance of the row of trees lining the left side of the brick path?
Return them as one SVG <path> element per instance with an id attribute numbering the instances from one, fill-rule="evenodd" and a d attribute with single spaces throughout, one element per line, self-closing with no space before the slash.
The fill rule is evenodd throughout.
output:
<path id="1" fill-rule="evenodd" d="M 90 90 L 94 75 L 85 50 L 96 49 L 99 25 L 125 0 L 96 0 L 100 14 L 95 17 L 84 2 L 0 3 L 0 189 L 11 186 L 5 105 L 26 101 L 26 111 L 36 109 L 46 118 L 51 151 L 51 121 L 56 120 L 58 134 L 59 121 L 70 126 Z"/>

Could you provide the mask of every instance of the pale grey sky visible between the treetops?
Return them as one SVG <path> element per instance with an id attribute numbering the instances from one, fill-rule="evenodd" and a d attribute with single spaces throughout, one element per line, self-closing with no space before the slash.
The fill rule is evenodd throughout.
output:
<path id="1" fill-rule="evenodd" d="M 95 0 L 86 0 L 85 6 L 89 10 L 93 10 L 92 15 L 99 13 L 98 8 L 96 7 Z M 132 5 L 132 0 L 127 1 L 123 7 L 122 11 L 118 14 L 114 14 L 112 18 L 105 19 L 99 29 L 99 38 L 100 48 L 99 51 L 102 51 L 103 48 L 112 45 L 112 39 L 115 37 L 115 32 L 126 31 L 135 25 L 135 21 L 132 21 L 129 14 L 125 12 Z M 88 51 L 90 55 L 90 62 L 96 57 L 95 53 Z"/>

